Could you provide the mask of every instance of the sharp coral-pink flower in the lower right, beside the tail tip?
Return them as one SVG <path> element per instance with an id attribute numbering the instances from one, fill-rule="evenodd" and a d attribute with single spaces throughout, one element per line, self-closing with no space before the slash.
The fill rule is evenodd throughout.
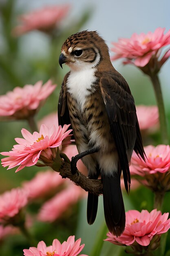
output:
<path id="1" fill-rule="evenodd" d="M 161 214 L 156 209 L 150 213 L 142 210 L 141 213 L 136 210 L 126 212 L 126 226 L 123 234 L 116 237 L 110 232 L 107 234 L 109 241 L 115 245 L 148 246 L 155 236 L 166 233 L 170 229 L 169 213 Z M 152 245 L 153 246 L 153 245 Z"/>

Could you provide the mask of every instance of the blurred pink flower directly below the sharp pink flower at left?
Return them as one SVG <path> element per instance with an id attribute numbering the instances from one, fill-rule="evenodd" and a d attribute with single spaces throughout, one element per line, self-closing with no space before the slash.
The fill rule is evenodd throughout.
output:
<path id="1" fill-rule="evenodd" d="M 23 182 L 23 188 L 28 193 L 29 199 L 42 198 L 55 191 L 64 183 L 64 179 L 55 171 L 38 172 L 30 181 Z"/>

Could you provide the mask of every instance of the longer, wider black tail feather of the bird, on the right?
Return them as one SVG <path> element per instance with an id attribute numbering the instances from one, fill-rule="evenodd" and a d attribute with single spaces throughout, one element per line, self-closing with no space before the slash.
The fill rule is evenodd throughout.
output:
<path id="1" fill-rule="evenodd" d="M 118 172 L 113 176 L 102 173 L 104 216 L 108 230 L 120 236 L 125 228 L 125 209 Z"/>

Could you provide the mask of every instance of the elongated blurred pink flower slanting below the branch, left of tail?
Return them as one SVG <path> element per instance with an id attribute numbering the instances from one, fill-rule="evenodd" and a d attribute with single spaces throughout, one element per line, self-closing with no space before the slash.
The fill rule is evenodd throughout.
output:
<path id="1" fill-rule="evenodd" d="M 57 218 L 60 218 L 69 207 L 76 204 L 80 198 L 84 197 L 84 195 L 86 195 L 86 193 L 82 188 L 71 184 L 68 188 L 57 193 L 57 195 L 42 205 L 38 214 L 38 220 L 44 222 L 55 221 Z"/>

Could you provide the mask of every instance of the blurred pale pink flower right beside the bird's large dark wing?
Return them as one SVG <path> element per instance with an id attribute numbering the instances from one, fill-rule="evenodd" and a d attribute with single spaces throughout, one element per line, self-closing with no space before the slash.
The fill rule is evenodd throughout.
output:
<path id="1" fill-rule="evenodd" d="M 157 106 L 144 106 L 136 107 L 137 118 L 141 130 L 154 129 L 159 124 L 159 113 Z"/>

